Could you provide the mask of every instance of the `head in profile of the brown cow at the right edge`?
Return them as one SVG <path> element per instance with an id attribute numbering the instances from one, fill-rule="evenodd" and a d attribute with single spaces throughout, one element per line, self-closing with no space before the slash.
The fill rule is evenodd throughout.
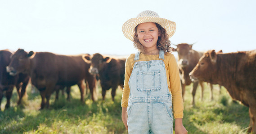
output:
<path id="1" fill-rule="evenodd" d="M 218 53 L 222 53 L 218 52 Z M 217 74 L 217 54 L 215 50 L 209 50 L 203 54 L 196 67 L 189 73 L 193 79 L 212 82 L 212 77 Z"/>

